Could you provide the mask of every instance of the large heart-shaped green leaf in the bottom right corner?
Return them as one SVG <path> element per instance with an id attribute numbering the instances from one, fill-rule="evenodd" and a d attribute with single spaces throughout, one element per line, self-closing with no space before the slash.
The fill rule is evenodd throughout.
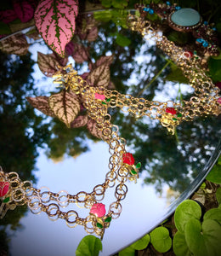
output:
<path id="1" fill-rule="evenodd" d="M 198 219 L 191 218 L 185 225 L 185 240 L 195 256 L 218 256 L 221 252 L 221 226 L 212 219 L 202 225 Z"/>

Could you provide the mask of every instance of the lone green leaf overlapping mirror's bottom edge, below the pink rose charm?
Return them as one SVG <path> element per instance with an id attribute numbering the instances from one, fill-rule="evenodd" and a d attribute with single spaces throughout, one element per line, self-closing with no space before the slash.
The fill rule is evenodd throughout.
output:
<path id="1" fill-rule="evenodd" d="M 102 243 L 96 236 L 88 235 L 84 236 L 80 241 L 76 256 L 98 256 L 99 251 L 102 251 Z"/>

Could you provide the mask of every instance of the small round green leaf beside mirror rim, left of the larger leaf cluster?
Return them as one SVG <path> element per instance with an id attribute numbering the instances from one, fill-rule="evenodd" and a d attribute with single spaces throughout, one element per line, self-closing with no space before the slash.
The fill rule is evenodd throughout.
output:
<path id="1" fill-rule="evenodd" d="M 172 246 L 169 231 L 164 227 L 158 227 L 150 232 L 150 241 L 159 253 L 166 253 Z"/>

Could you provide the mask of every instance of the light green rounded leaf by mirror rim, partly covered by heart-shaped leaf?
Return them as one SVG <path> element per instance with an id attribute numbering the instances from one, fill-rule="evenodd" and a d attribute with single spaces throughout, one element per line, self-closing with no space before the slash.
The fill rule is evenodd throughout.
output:
<path id="1" fill-rule="evenodd" d="M 201 218 L 201 207 L 192 200 L 183 201 L 176 209 L 174 222 L 180 232 L 184 232 L 185 224 L 190 218 Z"/>

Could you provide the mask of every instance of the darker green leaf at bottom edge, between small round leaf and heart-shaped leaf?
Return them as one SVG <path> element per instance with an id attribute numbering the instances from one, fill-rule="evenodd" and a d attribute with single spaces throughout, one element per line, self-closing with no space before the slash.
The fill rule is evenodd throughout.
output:
<path id="1" fill-rule="evenodd" d="M 191 256 L 189 247 L 186 244 L 184 233 L 177 231 L 173 236 L 173 251 L 176 256 Z"/>

